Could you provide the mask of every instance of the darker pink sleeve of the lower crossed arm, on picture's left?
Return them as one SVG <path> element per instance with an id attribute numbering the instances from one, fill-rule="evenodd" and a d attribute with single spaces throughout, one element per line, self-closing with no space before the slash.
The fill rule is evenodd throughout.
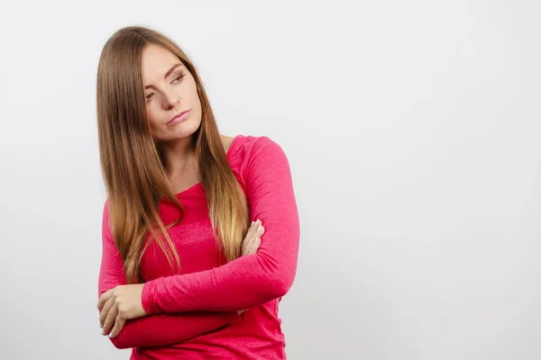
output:
<path id="1" fill-rule="evenodd" d="M 98 296 L 116 285 L 127 283 L 122 257 L 115 246 L 109 227 L 108 202 L 105 202 L 104 207 L 102 238 Z M 148 315 L 127 320 L 120 333 L 110 340 L 118 348 L 165 346 L 219 329 L 238 319 L 236 311 Z"/>

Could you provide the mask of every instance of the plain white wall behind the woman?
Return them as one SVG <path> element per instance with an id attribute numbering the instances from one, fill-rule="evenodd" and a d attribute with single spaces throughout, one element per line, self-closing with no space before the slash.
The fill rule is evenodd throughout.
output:
<path id="1" fill-rule="evenodd" d="M 541 358 L 540 3 L 225 3 L 2 1 L 2 357 L 129 356 L 96 311 L 96 67 L 140 24 L 289 156 L 289 359 Z"/>

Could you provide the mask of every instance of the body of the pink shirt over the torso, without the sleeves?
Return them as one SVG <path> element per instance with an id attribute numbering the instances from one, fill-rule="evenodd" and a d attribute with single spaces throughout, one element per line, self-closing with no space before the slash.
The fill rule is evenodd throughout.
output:
<path id="1" fill-rule="evenodd" d="M 254 137 L 235 137 L 227 151 L 227 158 L 234 175 L 244 188 L 242 174 L 245 161 L 243 147 Z M 212 269 L 223 264 L 213 236 L 206 206 L 205 191 L 195 184 L 177 193 L 184 208 L 179 225 L 168 229 L 180 258 L 181 274 Z M 160 203 L 160 217 L 165 224 L 172 222 L 179 212 L 169 203 Z M 152 242 L 142 257 L 142 277 L 145 282 L 161 276 L 172 275 L 167 257 Z M 187 359 L 285 359 L 285 339 L 278 317 L 281 298 L 244 311 L 241 320 L 221 329 L 210 331 L 196 338 L 168 347 L 133 349 L 133 359 L 187 358 Z"/>

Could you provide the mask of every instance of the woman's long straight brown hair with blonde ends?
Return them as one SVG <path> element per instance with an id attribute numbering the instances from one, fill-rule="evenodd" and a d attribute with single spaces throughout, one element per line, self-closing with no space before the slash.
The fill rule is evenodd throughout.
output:
<path id="1" fill-rule="evenodd" d="M 146 117 L 142 51 L 149 44 L 177 55 L 196 81 L 202 109 L 201 125 L 192 135 L 196 140 L 197 175 L 225 261 L 241 256 L 250 222 L 243 189 L 229 165 L 206 91 L 192 62 L 159 31 L 141 26 L 116 31 L 105 43 L 97 67 L 97 130 L 110 226 L 128 284 L 142 282 L 141 259 L 151 243 L 145 246 L 149 231 L 166 255 L 172 273 L 180 274 L 179 255 L 167 229 L 179 224 L 181 217 L 166 226 L 159 215 L 162 200 L 172 203 L 181 214 L 183 208 L 167 178 Z"/>

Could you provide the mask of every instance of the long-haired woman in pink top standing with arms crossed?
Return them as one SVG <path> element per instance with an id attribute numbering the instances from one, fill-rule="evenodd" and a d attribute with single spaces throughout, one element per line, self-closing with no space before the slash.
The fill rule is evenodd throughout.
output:
<path id="1" fill-rule="evenodd" d="M 137 26 L 102 51 L 97 121 L 103 334 L 132 359 L 285 359 L 299 222 L 280 146 L 221 135 L 187 56 Z"/>

